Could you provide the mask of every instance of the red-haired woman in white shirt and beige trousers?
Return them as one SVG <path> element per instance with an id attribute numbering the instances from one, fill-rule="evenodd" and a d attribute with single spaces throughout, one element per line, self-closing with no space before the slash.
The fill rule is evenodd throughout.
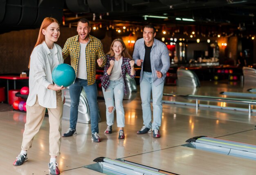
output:
<path id="1" fill-rule="evenodd" d="M 63 86 L 52 81 L 52 70 L 63 63 L 61 47 L 54 42 L 60 36 L 58 21 L 45 18 L 40 27 L 36 45 L 29 59 L 29 96 L 27 98 L 27 123 L 23 133 L 21 152 L 13 162 L 20 166 L 27 160 L 34 136 L 39 131 L 47 108 L 49 114 L 49 155 L 48 164 L 52 175 L 60 174 L 56 156 L 60 155 L 61 119 L 63 113 Z"/>

